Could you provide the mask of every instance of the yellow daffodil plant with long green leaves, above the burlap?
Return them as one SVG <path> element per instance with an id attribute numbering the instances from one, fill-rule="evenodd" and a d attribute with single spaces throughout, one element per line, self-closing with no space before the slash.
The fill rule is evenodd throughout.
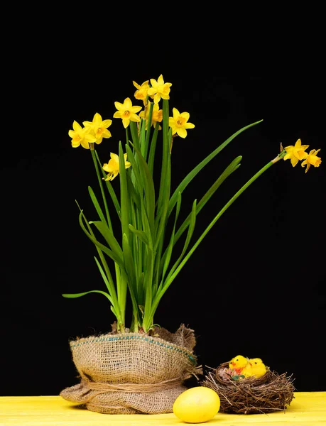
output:
<path id="1" fill-rule="evenodd" d="M 242 157 L 232 160 L 201 200 L 193 200 L 188 216 L 180 220 L 183 191 L 234 138 L 262 120 L 243 127 L 217 146 L 176 187 L 173 185 L 175 190 L 172 192 L 171 158 L 175 149 L 184 149 L 181 143 L 176 145 L 173 141 L 178 137 L 186 138 L 195 124 L 192 124 L 188 111 L 173 107 L 170 115 L 172 84 L 165 82 L 163 75 L 158 80 L 133 84 L 136 87 L 134 103 L 140 102 L 141 105 L 133 104 L 129 97 L 122 103 L 114 102 L 116 112 L 113 118 L 121 119 L 126 141 L 119 141 L 116 153 L 112 152 L 112 142 L 105 142 L 109 143 L 107 163 L 99 159 L 95 146 L 104 139 L 112 138 L 109 131 L 112 119 L 102 119 L 96 113 L 92 121 L 83 122 L 84 127 L 73 121 L 72 130 L 68 132 L 73 148 L 82 146 L 90 151 L 97 174 L 100 195 L 95 195 L 89 187 L 96 218 L 90 220 L 80 209 L 79 222 L 82 231 L 94 244 L 97 252 L 95 262 L 105 290 L 87 289 L 63 296 L 73 298 L 89 293 L 102 294 L 109 301 L 118 332 L 125 332 L 128 328 L 130 332 L 147 333 L 153 328 L 154 316 L 163 295 L 237 197 L 281 159 L 290 160 L 293 166 L 303 161 L 305 172 L 311 165 L 319 167 L 321 159 L 317 156 L 320 149 L 308 154 L 305 151 L 308 145 L 301 145 L 300 139 L 294 146 L 281 148 L 281 153 L 246 182 L 217 212 L 200 237 L 193 241 L 197 216 L 222 182 L 239 168 Z M 180 139 L 180 142 L 183 141 Z M 159 171 L 158 179 L 157 173 L 154 179 L 154 171 Z M 119 197 L 116 195 L 118 192 Z M 119 226 L 112 226 L 112 215 L 118 218 Z M 176 246 L 181 238 L 183 243 Z M 130 325 L 126 324 L 126 302 L 129 298 L 132 309 Z"/>

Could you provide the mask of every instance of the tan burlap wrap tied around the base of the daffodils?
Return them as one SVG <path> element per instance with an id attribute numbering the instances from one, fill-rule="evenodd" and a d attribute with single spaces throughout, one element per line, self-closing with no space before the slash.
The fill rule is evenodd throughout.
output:
<path id="1" fill-rule="evenodd" d="M 202 373 L 193 354 L 194 332 L 102 334 L 70 342 L 80 383 L 60 395 L 104 414 L 172 413 L 183 382 Z M 158 336 L 158 337 L 157 337 Z"/>

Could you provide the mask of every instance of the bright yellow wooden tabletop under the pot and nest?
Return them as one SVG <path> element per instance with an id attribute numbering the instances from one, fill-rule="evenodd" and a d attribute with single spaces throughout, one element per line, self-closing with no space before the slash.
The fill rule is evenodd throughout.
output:
<path id="1" fill-rule="evenodd" d="M 326 392 L 296 392 L 285 410 L 270 414 L 222 414 L 197 425 L 326 425 Z M 0 397 L 0 425 L 23 426 L 170 426 L 185 425 L 173 413 L 112 415 L 77 408 L 60 396 Z M 189 424 L 188 424 L 189 425 Z"/>

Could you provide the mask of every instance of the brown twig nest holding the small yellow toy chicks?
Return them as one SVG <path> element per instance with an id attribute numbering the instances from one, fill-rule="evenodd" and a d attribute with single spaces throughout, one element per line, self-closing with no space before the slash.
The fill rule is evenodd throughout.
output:
<path id="1" fill-rule="evenodd" d="M 259 414 L 286 410 L 293 400 L 293 378 L 286 373 L 271 371 L 259 377 L 242 378 L 238 381 L 227 374 L 229 363 L 210 368 L 202 386 L 217 392 L 221 401 L 221 413 Z"/>

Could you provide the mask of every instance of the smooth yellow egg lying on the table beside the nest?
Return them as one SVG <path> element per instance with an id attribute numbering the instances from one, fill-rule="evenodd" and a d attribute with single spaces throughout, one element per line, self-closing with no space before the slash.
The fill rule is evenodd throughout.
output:
<path id="1" fill-rule="evenodd" d="M 217 414 L 220 404 L 219 395 L 215 391 L 197 386 L 178 396 L 173 404 L 173 413 L 183 422 L 202 423 Z"/>

